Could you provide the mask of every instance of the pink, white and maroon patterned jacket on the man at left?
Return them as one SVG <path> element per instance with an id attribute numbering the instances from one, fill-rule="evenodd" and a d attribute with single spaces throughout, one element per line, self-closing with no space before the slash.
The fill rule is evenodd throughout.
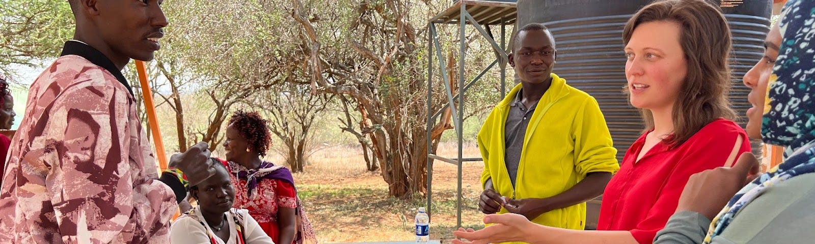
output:
<path id="1" fill-rule="evenodd" d="M 65 55 L 29 90 L 0 190 L 2 243 L 169 243 L 175 194 L 158 181 L 133 95 Z"/>

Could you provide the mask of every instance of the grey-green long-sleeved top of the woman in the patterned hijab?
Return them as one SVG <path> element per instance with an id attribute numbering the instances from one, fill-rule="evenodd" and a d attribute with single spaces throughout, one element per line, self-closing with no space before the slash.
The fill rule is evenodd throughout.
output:
<path id="1" fill-rule="evenodd" d="M 738 212 L 712 244 L 813 243 L 815 232 L 815 173 L 770 186 Z M 698 244 L 711 220 L 694 211 L 674 213 L 654 244 Z"/>

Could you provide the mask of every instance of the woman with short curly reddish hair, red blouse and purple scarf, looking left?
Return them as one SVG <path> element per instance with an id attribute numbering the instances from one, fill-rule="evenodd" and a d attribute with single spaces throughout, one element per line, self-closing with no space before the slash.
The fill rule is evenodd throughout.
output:
<path id="1" fill-rule="evenodd" d="M 292 173 L 261 159 L 271 144 L 267 120 L 257 112 L 237 111 L 229 119 L 227 165 L 235 186 L 232 207 L 249 210 L 275 243 L 315 241 L 314 231 L 299 205 Z"/>

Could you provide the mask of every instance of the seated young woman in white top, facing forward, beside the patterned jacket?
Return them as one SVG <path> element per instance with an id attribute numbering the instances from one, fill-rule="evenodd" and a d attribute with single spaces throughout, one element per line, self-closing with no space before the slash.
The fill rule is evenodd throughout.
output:
<path id="1" fill-rule="evenodd" d="M 213 159 L 214 160 L 214 159 Z M 216 173 L 190 188 L 198 206 L 185 212 L 172 224 L 174 244 L 274 244 L 249 211 L 232 208 L 235 190 L 227 168 L 213 162 Z"/>

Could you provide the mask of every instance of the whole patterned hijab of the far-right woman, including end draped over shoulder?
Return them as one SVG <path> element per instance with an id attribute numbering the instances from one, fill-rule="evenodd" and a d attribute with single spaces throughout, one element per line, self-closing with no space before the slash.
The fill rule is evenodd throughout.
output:
<path id="1" fill-rule="evenodd" d="M 782 181 L 815 172 L 815 1 L 791 0 L 779 28 L 781 50 L 769 81 L 769 109 L 764 113 L 764 142 L 786 146 L 786 160 L 756 178 L 730 199 L 713 218 L 704 243 L 722 233 L 744 206 Z"/>

